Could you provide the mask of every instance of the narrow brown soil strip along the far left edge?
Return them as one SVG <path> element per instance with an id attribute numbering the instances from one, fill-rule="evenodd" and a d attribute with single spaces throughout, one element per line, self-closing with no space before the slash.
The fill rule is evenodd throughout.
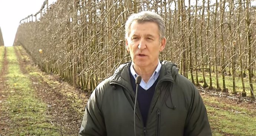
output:
<path id="1" fill-rule="evenodd" d="M 7 74 L 7 67 L 8 67 L 8 62 L 6 58 L 6 47 L 4 48 L 4 61 L 2 64 L 2 69 L 0 71 L 0 135 L 5 135 L 5 131 L 9 128 L 8 122 L 10 122 L 9 117 L 6 114 L 6 110 L 2 109 L 4 103 L 7 103 L 6 99 L 7 96 L 9 95 L 7 85 L 5 83 L 6 80 L 6 74 Z"/>

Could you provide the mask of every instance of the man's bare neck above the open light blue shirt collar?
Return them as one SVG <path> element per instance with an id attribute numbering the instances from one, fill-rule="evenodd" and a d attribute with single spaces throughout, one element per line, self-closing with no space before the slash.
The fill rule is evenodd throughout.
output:
<path id="1" fill-rule="evenodd" d="M 152 76 L 152 74 L 155 72 L 155 69 L 157 68 L 158 63 L 159 63 L 159 60 L 156 63 L 152 64 L 151 66 L 147 66 L 147 67 L 138 67 L 136 64 L 134 64 L 133 68 L 135 72 L 141 76 L 143 81 L 147 83 L 150 77 Z"/>

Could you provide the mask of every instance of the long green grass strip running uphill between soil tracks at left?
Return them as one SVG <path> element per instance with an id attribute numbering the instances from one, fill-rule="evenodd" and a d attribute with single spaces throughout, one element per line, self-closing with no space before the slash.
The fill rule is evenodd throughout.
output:
<path id="1" fill-rule="evenodd" d="M 59 136 L 58 128 L 50 123 L 50 116 L 46 115 L 46 103 L 37 98 L 28 76 L 22 74 L 13 47 L 7 48 L 7 60 L 6 83 L 10 92 L 7 101 L 10 103 L 3 105 L 3 109 L 7 110 L 12 121 L 9 134 Z"/>

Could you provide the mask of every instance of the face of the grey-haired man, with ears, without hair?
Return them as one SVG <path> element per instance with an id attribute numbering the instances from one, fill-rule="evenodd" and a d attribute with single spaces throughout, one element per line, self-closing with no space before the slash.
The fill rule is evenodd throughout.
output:
<path id="1" fill-rule="evenodd" d="M 164 50 L 166 39 L 160 42 L 159 29 L 154 22 L 134 21 L 125 46 L 131 59 L 138 67 L 152 67 L 158 63 L 159 53 Z"/>

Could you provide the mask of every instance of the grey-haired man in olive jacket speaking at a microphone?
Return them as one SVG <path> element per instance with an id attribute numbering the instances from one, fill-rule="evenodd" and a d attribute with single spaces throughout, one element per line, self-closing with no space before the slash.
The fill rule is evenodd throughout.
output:
<path id="1" fill-rule="evenodd" d="M 135 79 L 138 88 L 136 136 L 211 136 L 206 108 L 196 87 L 177 66 L 160 62 L 165 48 L 163 18 L 150 11 L 125 24 L 125 47 L 132 62 L 122 64 L 93 91 L 80 136 L 134 136 Z"/>

